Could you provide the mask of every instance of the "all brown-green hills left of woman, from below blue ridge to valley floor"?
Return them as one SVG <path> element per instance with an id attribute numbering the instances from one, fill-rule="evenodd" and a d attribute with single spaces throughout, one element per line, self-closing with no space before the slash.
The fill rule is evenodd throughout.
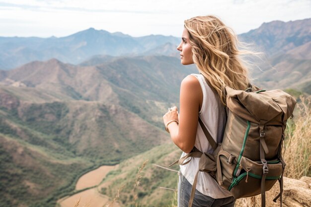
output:
<path id="1" fill-rule="evenodd" d="M 162 114 L 194 71 L 178 64 L 138 57 L 78 67 L 54 59 L 3 73 L 0 205 L 54 207 L 83 173 L 170 142 Z"/>

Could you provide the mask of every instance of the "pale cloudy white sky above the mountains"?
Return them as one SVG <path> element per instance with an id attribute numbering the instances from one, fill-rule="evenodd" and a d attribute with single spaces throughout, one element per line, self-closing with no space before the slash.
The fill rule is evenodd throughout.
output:
<path id="1" fill-rule="evenodd" d="M 93 27 L 180 37 L 185 19 L 209 14 L 241 34 L 263 22 L 311 18 L 311 0 L 0 0 L 0 36 L 64 37 Z"/>

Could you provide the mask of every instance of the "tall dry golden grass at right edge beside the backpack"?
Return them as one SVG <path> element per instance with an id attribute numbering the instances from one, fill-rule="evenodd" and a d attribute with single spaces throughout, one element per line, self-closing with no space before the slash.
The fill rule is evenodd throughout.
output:
<path id="1" fill-rule="evenodd" d="M 297 115 L 287 123 L 283 153 L 287 164 L 284 175 L 295 179 L 311 176 L 311 98 L 300 99 Z"/>

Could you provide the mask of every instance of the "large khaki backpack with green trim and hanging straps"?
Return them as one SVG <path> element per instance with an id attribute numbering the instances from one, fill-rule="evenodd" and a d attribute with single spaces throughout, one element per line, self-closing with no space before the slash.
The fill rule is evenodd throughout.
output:
<path id="1" fill-rule="evenodd" d="M 261 194 L 262 207 L 265 206 L 265 191 L 279 180 L 280 194 L 274 202 L 281 197 L 282 207 L 285 168 L 282 144 L 286 121 L 292 117 L 296 100 L 280 89 L 246 92 L 226 87 L 226 91 L 228 117 L 223 142 L 217 144 L 199 119 L 214 153 L 202 153 L 194 148 L 178 163 L 187 164 L 191 161 L 187 158 L 200 157 L 199 171 L 210 173 L 235 199 Z M 192 206 L 198 172 L 189 207 Z"/>

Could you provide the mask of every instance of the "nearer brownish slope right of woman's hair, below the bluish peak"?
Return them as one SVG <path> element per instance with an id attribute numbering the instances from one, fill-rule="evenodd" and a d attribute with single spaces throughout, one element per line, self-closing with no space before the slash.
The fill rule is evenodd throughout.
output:
<path id="1" fill-rule="evenodd" d="M 254 83 L 267 89 L 295 89 L 300 93 L 310 93 L 311 83 L 311 42 L 268 58 L 260 66 L 261 70 L 253 70 Z M 310 86 L 309 86 L 310 87 Z"/>

